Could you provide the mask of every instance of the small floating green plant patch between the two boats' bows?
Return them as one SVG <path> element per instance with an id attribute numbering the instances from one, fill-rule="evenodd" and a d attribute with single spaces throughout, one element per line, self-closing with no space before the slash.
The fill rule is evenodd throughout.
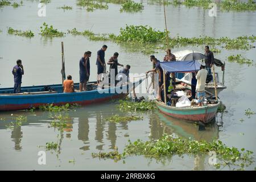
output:
<path id="1" fill-rule="evenodd" d="M 148 111 L 156 108 L 153 101 L 131 102 L 127 100 L 120 100 L 118 107 L 122 111 Z"/>

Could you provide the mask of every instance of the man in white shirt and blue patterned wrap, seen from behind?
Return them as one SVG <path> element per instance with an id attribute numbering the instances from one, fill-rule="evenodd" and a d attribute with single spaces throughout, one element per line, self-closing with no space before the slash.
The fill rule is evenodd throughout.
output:
<path id="1" fill-rule="evenodd" d="M 202 106 L 202 102 L 204 102 L 205 97 L 205 82 L 207 79 L 208 71 L 205 69 L 205 63 L 201 63 L 200 70 L 196 74 L 197 84 L 196 84 L 196 93 L 197 99 L 199 100 L 199 106 Z"/>

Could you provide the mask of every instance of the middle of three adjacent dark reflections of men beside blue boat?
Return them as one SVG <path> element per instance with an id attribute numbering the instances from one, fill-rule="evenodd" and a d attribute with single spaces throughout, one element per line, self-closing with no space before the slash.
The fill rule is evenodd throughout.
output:
<path id="1" fill-rule="evenodd" d="M 96 149 L 98 150 L 103 150 L 102 148 L 104 146 L 104 143 L 102 141 L 102 139 L 104 138 L 103 132 L 104 132 L 104 121 L 102 121 L 101 115 L 99 114 L 96 116 L 95 140 L 102 144 L 99 144 L 96 146 Z"/>

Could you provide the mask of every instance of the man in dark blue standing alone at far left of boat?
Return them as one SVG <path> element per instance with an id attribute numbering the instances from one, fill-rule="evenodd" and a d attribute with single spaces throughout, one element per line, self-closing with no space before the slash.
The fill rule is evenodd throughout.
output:
<path id="1" fill-rule="evenodd" d="M 14 76 L 14 89 L 13 93 L 20 93 L 20 88 L 22 84 L 22 75 L 24 75 L 24 68 L 22 65 L 22 60 L 18 59 L 16 61 L 17 65 L 13 67 L 13 76 Z"/>

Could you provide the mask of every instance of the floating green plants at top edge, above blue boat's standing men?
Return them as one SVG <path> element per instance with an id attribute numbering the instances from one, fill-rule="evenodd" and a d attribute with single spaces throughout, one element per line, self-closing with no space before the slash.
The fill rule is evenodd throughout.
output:
<path id="1" fill-rule="evenodd" d="M 109 6 L 107 4 L 97 3 L 97 1 L 91 0 L 78 0 L 77 6 L 86 7 L 86 11 L 94 11 L 97 9 L 108 10 Z"/>

